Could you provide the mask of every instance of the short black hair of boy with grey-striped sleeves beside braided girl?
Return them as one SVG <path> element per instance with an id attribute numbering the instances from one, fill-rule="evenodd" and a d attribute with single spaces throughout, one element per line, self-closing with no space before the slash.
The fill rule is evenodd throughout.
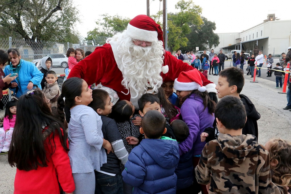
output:
<path id="1" fill-rule="evenodd" d="M 97 111 L 97 109 L 105 109 L 106 100 L 109 97 L 109 94 L 105 90 L 97 89 L 92 91 L 92 102 L 88 105 L 93 110 Z"/>

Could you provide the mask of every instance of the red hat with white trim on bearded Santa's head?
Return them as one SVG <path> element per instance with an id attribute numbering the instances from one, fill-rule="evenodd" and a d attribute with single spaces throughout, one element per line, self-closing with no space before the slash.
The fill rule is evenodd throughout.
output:
<path id="1" fill-rule="evenodd" d="M 132 19 L 127 30 L 130 37 L 146 42 L 163 41 L 163 31 L 155 20 L 146 15 L 138 15 Z"/>

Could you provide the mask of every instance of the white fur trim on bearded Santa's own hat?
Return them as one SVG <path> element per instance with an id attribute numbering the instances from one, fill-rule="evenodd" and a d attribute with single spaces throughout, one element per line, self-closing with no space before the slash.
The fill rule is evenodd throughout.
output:
<path id="1" fill-rule="evenodd" d="M 134 27 L 133 25 L 130 25 L 128 23 L 127 25 L 127 33 L 130 37 L 137 40 L 143 40 L 147 42 L 155 42 L 158 41 L 158 32 L 157 31 L 150 31 L 150 30 L 144 30 L 137 27 Z"/>

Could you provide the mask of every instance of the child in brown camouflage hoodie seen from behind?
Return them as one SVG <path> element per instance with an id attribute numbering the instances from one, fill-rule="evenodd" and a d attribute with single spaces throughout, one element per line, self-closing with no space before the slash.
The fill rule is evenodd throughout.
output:
<path id="1" fill-rule="evenodd" d="M 241 100 L 223 97 L 214 115 L 220 134 L 202 151 L 197 182 L 210 183 L 209 193 L 280 193 L 271 181 L 268 150 L 255 136 L 242 135 L 247 116 Z"/>

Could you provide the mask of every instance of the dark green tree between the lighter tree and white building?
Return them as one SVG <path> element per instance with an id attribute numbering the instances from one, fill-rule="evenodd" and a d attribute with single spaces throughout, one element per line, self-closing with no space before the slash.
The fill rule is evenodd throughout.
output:
<path id="1" fill-rule="evenodd" d="M 204 23 L 201 26 L 191 27 L 191 33 L 186 35 L 189 42 L 181 49 L 196 50 L 198 46 L 199 50 L 204 50 L 218 46 L 219 36 L 213 32 L 216 29 L 215 22 L 208 21 L 205 17 L 202 17 L 202 20 Z"/>

